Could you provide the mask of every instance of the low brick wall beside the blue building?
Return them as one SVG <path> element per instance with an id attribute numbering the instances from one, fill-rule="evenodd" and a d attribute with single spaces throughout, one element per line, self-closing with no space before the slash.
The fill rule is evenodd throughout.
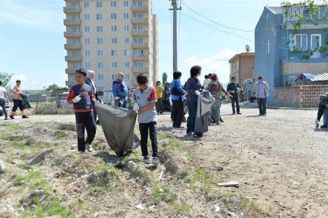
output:
<path id="1" fill-rule="evenodd" d="M 315 108 L 319 96 L 328 91 L 328 85 L 304 85 L 275 88 L 275 105 L 285 107 Z"/>

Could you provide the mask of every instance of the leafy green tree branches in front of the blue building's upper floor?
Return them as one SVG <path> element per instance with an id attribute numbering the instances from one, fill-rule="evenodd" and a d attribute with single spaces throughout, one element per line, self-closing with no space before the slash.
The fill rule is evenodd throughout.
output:
<path id="1" fill-rule="evenodd" d="M 328 28 L 323 27 L 319 24 L 319 21 L 328 21 L 328 2 L 323 1 L 323 4 L 318 5 L 315 4 L 314 0 L 303 0 L 298 4 L 291 4 L 290 2 L 282 2 L 282 7 L 285 8 L 284 17 L 285 21 L 283 23 L 286 28 L 290 18 L 293 18 L 293 31 L 292 38 L 295 34 L 299 33 L 301 26 L 304 23 L 312 23 L 317 26 L 318 29 L 324 29 L 325 32 L 328 32 Z M 300 10 L 292 10 L 293 8 L 299 8 Z M 305 13 L 299 13 L 300 11 L 304 11 Z M 288 40 L 286 43 L 289 46 L 291 43 L 294 43 L 294 40 Z M 302 59 L 309 59 L 315 52 L 326 53 L 328 52 L 328 34 L 326 37 L 325 44 L 316 48 L 298 48 L 295 45 L 288 50 L 290 54 L 301 54 Z"/>

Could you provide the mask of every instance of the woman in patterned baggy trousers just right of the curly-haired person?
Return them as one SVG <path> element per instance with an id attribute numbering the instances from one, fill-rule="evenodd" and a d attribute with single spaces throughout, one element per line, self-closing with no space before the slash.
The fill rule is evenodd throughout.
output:
<path id="1" fill-rule="evenodd" d="M 211 120 L 213 119 L 214 123 L 219 125 L 222 94 L 227 94 L 229 96 L 231 95 L 223 88 L 216 74 L 213 74 L 210 79 L 211 82 L 209 83 L 207 90 L 213 95 L 215 102 L 208 114 L 208 123 L 210 124 Z"/>

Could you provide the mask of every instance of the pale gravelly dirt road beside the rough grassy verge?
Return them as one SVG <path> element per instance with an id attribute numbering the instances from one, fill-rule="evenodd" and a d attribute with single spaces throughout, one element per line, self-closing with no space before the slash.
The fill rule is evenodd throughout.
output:
<path id="1" fill-rule="evenodd" d="M 171 129 L 168 114 L 159 115 L 158 129 L 187 144 L 196 166 L 223 167 L 211 171 L 217 181 L 239 182 L 238 189 L 226 189 L 249 197 L 271 216 L 328 216 L 328 132 L 314 128 L 317 111 L 269 109 L 267 116 L 258 117 L 256 108 L 231 115 L 231 107 L 223 105 L 221 112 L 224 123 L 210 126 L 202 138 Z M 74 115 L 32 120 L 74 122 Z"/>

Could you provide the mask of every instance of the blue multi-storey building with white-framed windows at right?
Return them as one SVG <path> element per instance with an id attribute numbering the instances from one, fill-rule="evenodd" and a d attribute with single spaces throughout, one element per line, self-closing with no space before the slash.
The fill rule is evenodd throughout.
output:
<path id="1" fill-rule="evenodd" d="M 312 21 L 302 21 L 295 34 L 296 14 Z M 327 16 L 326 6 L 316 16 Z M 317 20 L 306 6 L 264 8 L 255 28 L 255 79 L 262 75 L 269 84 L 269 105 L 274 104 L 274 87 L 296 85 L 304 73 L 328 72 L 327 52 L 310 52 L 328 44 L 325 28 L 328 21 Z"/>

